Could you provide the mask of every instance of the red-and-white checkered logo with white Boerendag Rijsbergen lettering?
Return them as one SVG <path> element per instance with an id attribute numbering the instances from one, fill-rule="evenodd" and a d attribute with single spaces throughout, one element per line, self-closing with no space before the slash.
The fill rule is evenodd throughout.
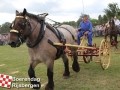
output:
<path id="1" fill-rule="evenodd" d="M 5 74 L 0 74 L 0 87 L 8 89 L 40 87 L 39 84 L 28 84 L 27 82 L 30 81 L 40 82 L 40 78 L 16 78 Z"/>

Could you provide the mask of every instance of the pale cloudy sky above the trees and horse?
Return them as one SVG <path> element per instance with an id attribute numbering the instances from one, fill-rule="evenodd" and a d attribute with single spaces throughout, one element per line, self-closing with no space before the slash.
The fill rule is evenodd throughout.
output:
<path id="1" fill-rule="evenodd" d="M 47 17 L 58 22 L 76 21 L 81 13 L 97 19 L 113 2 L 120 6 L 120 0 L 0 0 L 0 25 L 12 22 L 15 11 L 22 12 L 24 8 L 36 15 L 49 13 Z"/>

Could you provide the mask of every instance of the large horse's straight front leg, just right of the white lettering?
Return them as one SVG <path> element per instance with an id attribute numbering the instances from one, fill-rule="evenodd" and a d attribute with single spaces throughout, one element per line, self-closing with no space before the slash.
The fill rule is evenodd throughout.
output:
<path id="1" fill-rule="evenodd" d="M 54 90 L 54 81 L 53 81 L 53 60 L 47 60 L 47 76 L 48 76 L 48 83 L 45 87 L 45 90 Z"/>

